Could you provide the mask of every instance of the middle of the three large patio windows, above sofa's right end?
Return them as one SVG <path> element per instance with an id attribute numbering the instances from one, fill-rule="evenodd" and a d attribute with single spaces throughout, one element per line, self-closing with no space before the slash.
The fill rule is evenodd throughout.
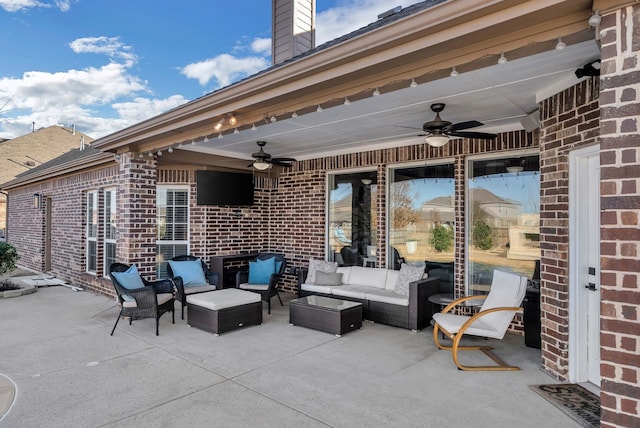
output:
<path id="1" fill-rule="evenodd" d="M 453 173 L 452 163 L 389 170 L 389 266 L 399 269 L 399 259 L 417 265 L 431 261 L 453 266 Z"/>

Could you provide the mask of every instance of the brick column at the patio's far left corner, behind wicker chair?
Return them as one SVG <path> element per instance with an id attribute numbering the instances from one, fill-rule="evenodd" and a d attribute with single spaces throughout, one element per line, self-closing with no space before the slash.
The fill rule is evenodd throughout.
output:
<path id="1" fill-rule="evenodd" d="M 152 157 L 125 153 L 118 170 L 118 246 L 116 259 L 135 263 L 145 278 L 156 272 L 156 182 Z"/>

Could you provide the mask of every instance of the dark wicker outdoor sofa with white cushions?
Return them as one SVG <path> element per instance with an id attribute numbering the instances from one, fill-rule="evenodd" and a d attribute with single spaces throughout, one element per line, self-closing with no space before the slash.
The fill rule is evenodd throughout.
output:
<path id="1" fill-rule="evenodd" d="M 330 262 L 316 262 L 332 269 L 327 268 Z M 419 279 L 407 284 L 404 295 L 396 289 L 401 271 L 361 266 L 336 266 L 333 270 L 315 270 L 310 279 L 309 268 L 299 268 L 298 297 L 319 295 L 360 302 L 364 319 L 414 331 L 430 324 L 433 305 L 429 296 L 441 292 L 438 277 L 421 273 Z"/>

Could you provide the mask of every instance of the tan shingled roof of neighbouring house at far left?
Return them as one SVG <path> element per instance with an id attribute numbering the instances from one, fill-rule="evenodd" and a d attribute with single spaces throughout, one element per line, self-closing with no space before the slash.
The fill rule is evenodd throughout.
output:
<path id="1" fill-rule="evenodd" d="M 0 142 L 0 183 L 30 174 L 51 159 L 80 147 L 93 138 L 59 125 L 40 128 L 29 134 Z M 0 184 L 0 187 L 4 186 Z"/>

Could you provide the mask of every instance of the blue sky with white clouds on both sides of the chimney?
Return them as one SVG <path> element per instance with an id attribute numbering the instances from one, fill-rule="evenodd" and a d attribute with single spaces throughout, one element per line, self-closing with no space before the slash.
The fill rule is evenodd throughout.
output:
<path id="1" fill-rule="evenodd" d="M 317 0 L 316 45 L 414 3 Z M 0 138 L 103 137 L 270 66 L 270 0 L 0 0 Z"/>

